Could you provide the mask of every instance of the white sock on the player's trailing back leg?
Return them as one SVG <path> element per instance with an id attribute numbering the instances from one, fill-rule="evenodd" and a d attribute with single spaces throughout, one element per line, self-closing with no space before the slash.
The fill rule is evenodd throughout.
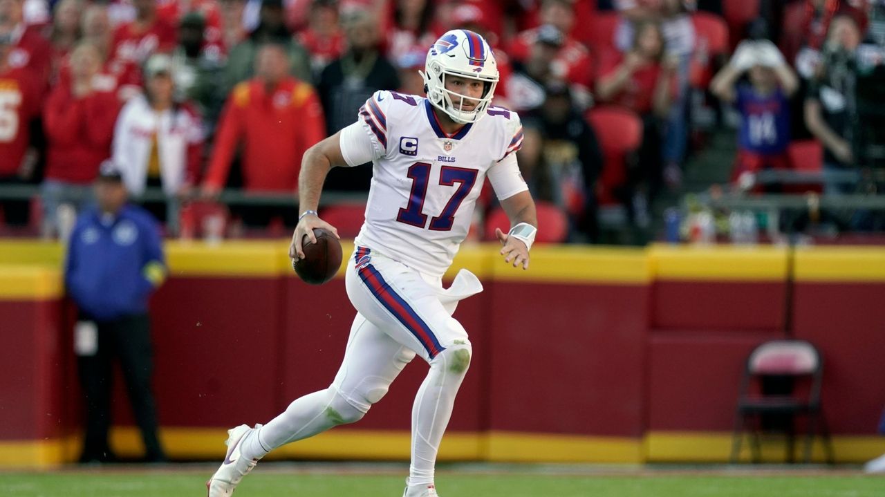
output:
<path id="1" fill-rule="evenodd" d="M 353 423 L 365 414 L 342 399 L 333 388 L 307 394 L 252 432 L 256 436 L 243 440 L 242 454 L 260 458 L 276 447 L 310 438 L 339 424 Z"/>

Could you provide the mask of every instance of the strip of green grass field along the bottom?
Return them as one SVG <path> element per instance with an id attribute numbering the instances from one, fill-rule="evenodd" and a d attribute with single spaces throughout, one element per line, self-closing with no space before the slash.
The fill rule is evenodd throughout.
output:
<path id="1" fill-rule="evenodd" d="M 400 497 L 405 468 L 385 465 L 266 464 L 236 497 Z M 205 495 L 214 465 L 78 468 L 0 473 L 0 495 L 14 497 L 184 497 Z M 534 465 L 439 471 L 443 497 L 881 497 L 885 478 L 852 470 L 597 469 Z"/>

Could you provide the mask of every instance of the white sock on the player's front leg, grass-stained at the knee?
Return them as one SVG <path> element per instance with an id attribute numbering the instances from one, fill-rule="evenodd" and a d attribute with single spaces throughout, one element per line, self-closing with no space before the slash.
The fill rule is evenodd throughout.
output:
<path id="1" fill-rule="evenodd" d="M 430 362 L 412 406 L 412 466 L 409 486 L 434 483 L 436 453 L 449 425 L 455 395 L 470 365 L 470 348 L 447 348 Z"/>

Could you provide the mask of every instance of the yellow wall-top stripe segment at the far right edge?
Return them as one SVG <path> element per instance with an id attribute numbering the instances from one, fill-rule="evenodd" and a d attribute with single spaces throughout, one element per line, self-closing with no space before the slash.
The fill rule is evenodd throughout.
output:
<path id="1" fill-rule="evenodd" d="M 885 248 L 797 248 L 797 281 L 885 282 Z"/>

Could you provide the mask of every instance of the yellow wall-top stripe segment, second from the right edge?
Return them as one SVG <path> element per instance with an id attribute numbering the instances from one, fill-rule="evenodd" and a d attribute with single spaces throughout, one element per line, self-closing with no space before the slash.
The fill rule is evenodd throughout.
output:
<path id="1" fill-rule="evenodd" d="M 655 279 L 786 281 L 788 249 L 780 247 L 686 247 L 648 250 Z"/>

